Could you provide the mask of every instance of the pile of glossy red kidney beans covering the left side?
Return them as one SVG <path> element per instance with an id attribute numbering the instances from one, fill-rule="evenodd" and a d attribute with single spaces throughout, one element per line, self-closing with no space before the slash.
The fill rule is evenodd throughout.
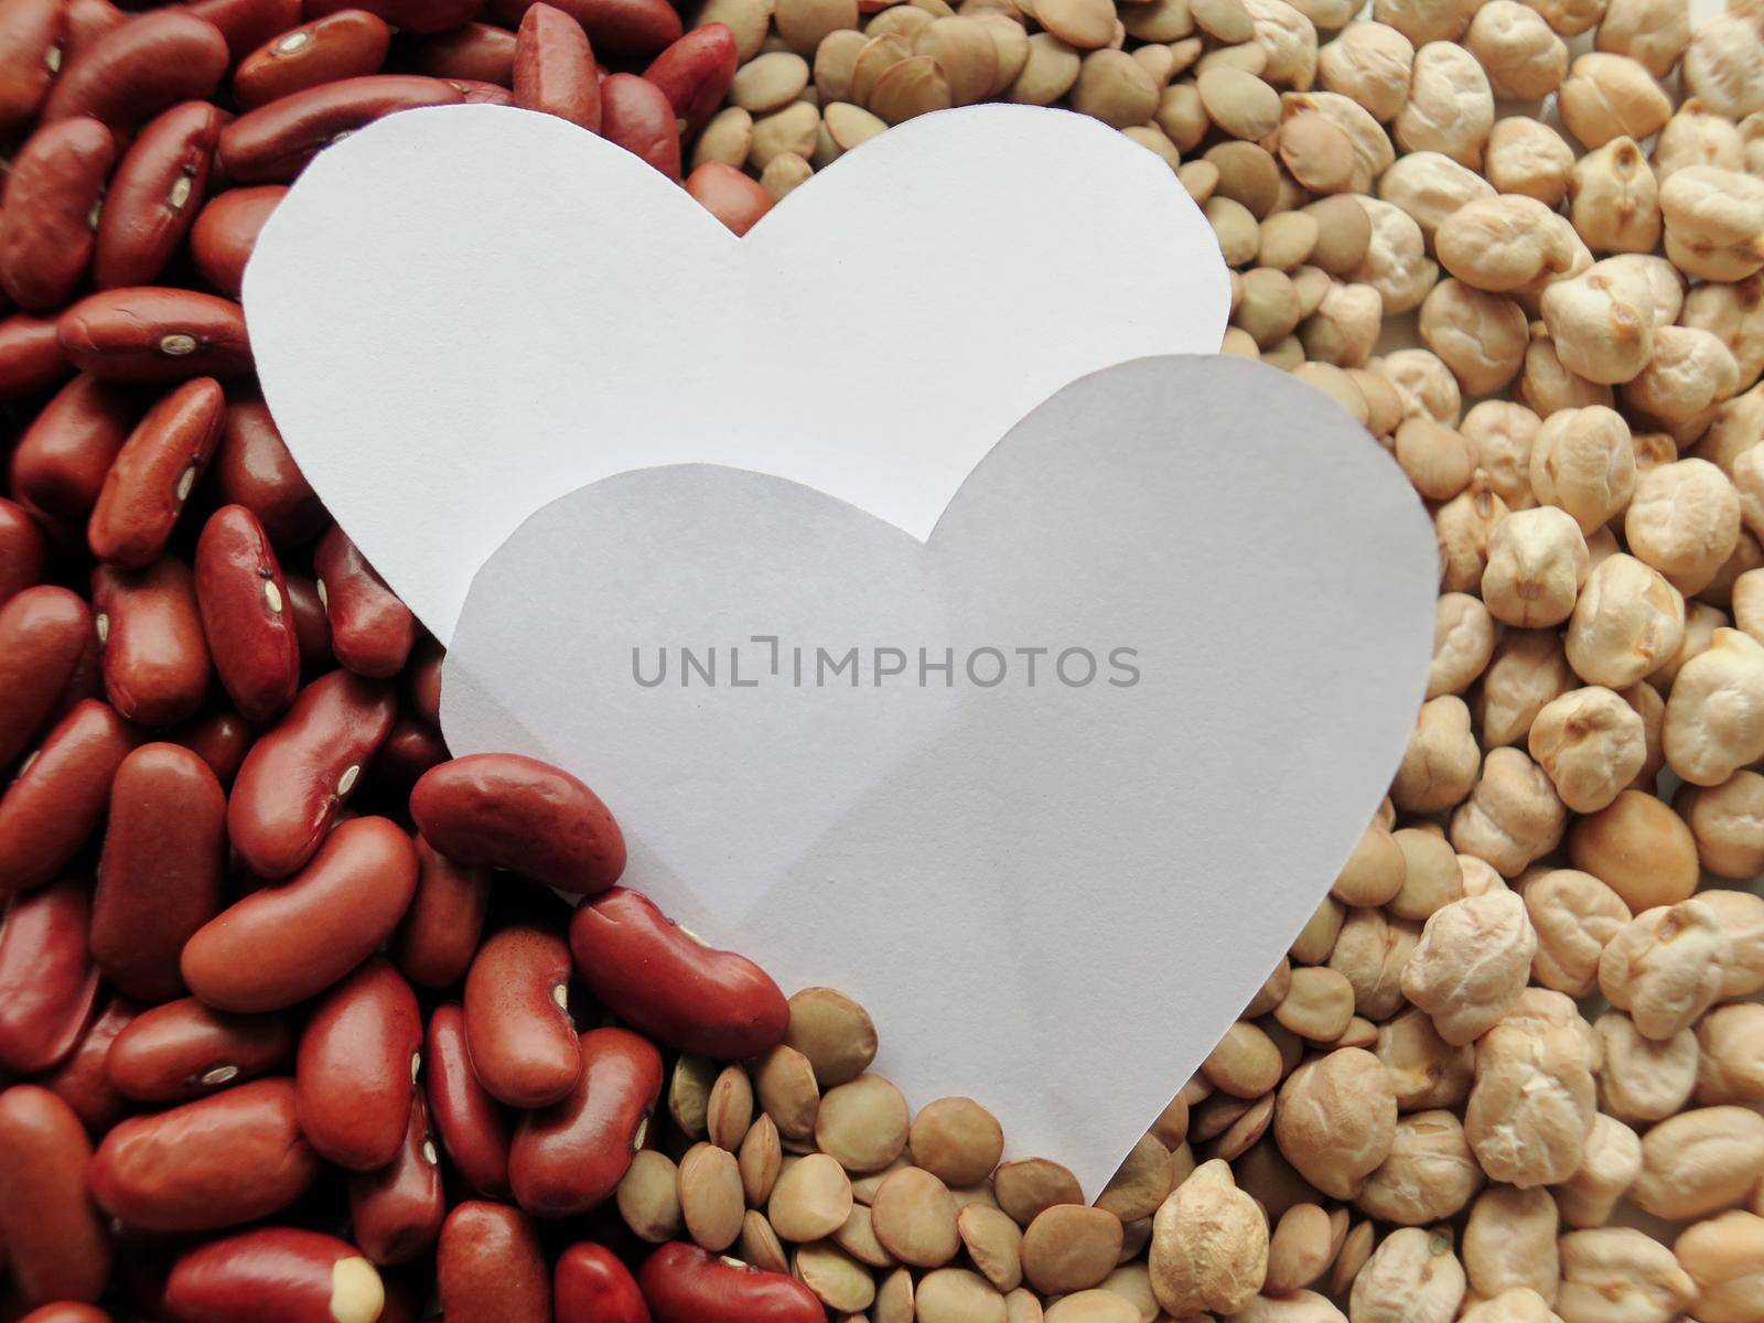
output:
<path id="1" fill-rule="evenodd" d="M 512 102 L 677 178 L 736 67 L 665 0 L 482 7 L 0 0 L 0 1319 L 824 1318 L 607 1208 L 663 1057 L 774 1046 L 781 993 L 614 886 L 573 776 L 448 760 L 439 649 L 252 379 L 240 275 L 326 143 Z"/>

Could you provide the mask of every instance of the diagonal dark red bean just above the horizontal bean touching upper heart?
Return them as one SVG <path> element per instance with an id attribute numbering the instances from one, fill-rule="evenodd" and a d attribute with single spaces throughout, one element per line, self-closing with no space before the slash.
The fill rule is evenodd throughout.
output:
<path id="1" fill-rule="evenodd" d="M 123 153 L 99 213 L 92 275 L 101 288 L 152 284 L 166 270 L 208 192 L 220 120 L 206 101 L 187 101 Z"/>

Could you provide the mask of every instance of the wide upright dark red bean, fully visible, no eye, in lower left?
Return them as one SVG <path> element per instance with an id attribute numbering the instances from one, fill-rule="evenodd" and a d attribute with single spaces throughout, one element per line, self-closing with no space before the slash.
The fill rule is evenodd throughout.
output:
<path id="1" fill-rule="evenodd" d="M 220 910 L 226 796 L 199 755 L 143 744 L 116 769 L 92 903 L 104 977 L 143 1002 L 183 993 L 183 944 Z"/>

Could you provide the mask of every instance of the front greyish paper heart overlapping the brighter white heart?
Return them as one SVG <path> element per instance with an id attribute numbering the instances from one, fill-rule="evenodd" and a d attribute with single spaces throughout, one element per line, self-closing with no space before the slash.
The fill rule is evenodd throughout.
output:
<path id="1" fill-rule="evenodd" d="M 928 545 L 711 466 L 547 505 L 471 586 L 441 720 L 580 774 L 630 886 L 863 1000 L 914 1106 L 977 1097 L 1094 1196 L 1376 810 L 1436 586 L 1420 503 L 1335 406 L 1148 358 L 1018 423 Z M 1020 647 L 1050 649 L 1034 686 Z"/>

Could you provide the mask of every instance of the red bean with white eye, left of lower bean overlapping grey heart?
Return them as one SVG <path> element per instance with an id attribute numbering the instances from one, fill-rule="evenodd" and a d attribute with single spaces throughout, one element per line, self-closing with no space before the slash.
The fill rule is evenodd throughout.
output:
<path id="1" fill-rule="evenodd" d="M 570 947 L 542 928 L 490 937 L 466 975 L 466 1046 L 478 1080 L 512 1108 L 568 1097 L 582 1073 L 570 1023 Z"/>

